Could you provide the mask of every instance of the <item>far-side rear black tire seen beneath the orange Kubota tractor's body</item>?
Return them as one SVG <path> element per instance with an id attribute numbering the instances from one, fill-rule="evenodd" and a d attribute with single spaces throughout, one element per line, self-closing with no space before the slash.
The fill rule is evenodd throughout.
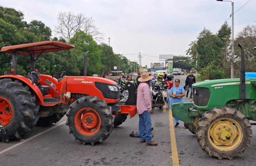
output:
<path id="1" fill-rule="evenodd" d="M 61 120 L 61 118 L 64 116 L 65 114 L 63 113 L 58 113 L 58 114 L 53 114 L 51 116 L 48 117 L 41 117 L 38 119 L 38 121 L 36 122 L 37 126 L 42 126 L 42 127 L 48 127 L 51 126 L 52 123 L 57 123 L 58 121 Z"/>

